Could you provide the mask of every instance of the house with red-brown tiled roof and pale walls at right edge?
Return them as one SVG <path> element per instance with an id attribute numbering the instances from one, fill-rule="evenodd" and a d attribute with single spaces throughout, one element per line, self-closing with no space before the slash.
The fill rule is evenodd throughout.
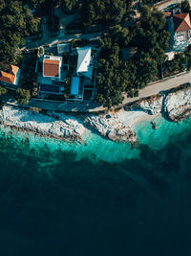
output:
<path id="1" fill-rule="evenodd" d="M 191 22 L 189 13 L 180 13 L 173 16 L 174 48 L 182 50 L 191 43 Z"/>

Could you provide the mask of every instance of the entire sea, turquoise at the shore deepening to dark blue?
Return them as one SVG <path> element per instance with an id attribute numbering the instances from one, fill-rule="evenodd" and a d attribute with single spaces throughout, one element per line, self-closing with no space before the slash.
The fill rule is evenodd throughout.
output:
<path id="1" fill-rule="evenodd" d="M 191 255 L 191 120 L 157 123 L 138 149 L 3 130 L 0 255 Z"/>

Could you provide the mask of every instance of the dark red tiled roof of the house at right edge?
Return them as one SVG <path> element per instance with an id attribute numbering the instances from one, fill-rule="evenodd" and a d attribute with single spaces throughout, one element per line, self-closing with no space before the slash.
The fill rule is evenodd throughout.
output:
<path id="1" fill-rule="evenodd" d="M 191 30 L 189 13 L 181 13 L 173 16 L 175 32 Z"/>

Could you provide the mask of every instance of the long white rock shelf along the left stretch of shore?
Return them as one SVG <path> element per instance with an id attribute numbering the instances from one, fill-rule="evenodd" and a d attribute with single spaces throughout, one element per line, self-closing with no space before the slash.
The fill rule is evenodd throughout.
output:
<path id="1" fill-rule="evenodd" d="M 80 140 L 86 130 L 72 116 L 57 113 L 43 115 L 11 106 L 3 106 L 0 110 L 0 122 L 11 128 L 23 129 L 38 133 L 39 135 L 67 140 Z"/>

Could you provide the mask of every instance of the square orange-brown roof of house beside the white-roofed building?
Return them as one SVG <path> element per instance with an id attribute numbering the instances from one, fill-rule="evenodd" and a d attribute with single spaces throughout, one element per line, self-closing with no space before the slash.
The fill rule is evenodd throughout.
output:
<path id="1" fill-rule="evenodd" d="M 45 58 L 43 63 L 43 75 L 45 77 L 59 76 L 59 60 Z"/>

